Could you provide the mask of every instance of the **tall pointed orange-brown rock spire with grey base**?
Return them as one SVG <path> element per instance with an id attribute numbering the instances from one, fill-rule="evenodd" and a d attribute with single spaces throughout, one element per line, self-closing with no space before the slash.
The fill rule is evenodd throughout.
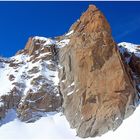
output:
<path id="1" fill-rule="evenodd" d="M 100 136 L 134 111 L 135 87 L 98 8 L 90 5 L 70 30 L 59 53 L 64 114 L 78 136 Z"/>

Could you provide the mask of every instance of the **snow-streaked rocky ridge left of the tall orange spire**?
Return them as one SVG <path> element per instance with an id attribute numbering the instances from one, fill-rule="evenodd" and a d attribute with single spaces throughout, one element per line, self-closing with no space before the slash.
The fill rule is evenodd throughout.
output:
<path id="1" fill-rule="evenodd" d="M 11 108 L 15 108 L 18 117 L 26 122 L 59 110 L 62 97 L 58 89 L 55 41 L 43 37 L 29 38 L 25 49 L 7 63 L 4 60 L 1 59 L 0 72 L 4 73 L 2 77 L 9 83 L 9 90 L 0 94 L 0 118 Z"/>

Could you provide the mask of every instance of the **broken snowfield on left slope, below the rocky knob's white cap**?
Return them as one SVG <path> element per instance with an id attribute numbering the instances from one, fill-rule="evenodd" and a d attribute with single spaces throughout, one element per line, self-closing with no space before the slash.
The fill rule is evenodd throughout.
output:
<path id="1" fill-rule="evenodd" d="M 30 57 L 28 55 L 23 54 L 16 55 L 10 59 L 11 61 L 14 61 L 15 65 L 17 64 L 18 66 L 13 68 L 10 67 L 10 63 L 8 63 L 0 69 L 0 85 L 2 85 L 0 88 L 0 95 L 9 94 L 10 90 L 12 90 L 14 87 L 13 83 L 15 82 L 23 83 L 25 85 L 24 94 L 29 89 L 35 91 L 35 89 L 39 87 L 34 87 L 31 85 L 31 82 L 40 75 L 46 77 L 48 82 L 52 81 L 55 85 L 57 85 L 59 82 L 57 78 L 57 71 L 52 71 L 47 68 L 44 69 L 44 67 L 47 67 L 47 65 L 53 64 L 51 60 L 42 61 L 40 59 L 39 61 L 33 63 L 33 61 L 29 61 Z M 31 72 L 33 69 L 36 69 L 36 72 Z M 12 81 L 9 80 L 10 75 L 14 76 Z M 54 77 L 52 77 L 52 75 Z"/>

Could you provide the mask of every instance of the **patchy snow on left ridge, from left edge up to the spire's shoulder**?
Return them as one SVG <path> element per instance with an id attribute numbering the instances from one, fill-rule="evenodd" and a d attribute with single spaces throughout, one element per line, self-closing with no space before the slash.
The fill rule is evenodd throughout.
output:
<path id="1" fill-rule="evenodd" d="M 73 31 L 70 32 L 67 36 L 71 35 L 72 33 Z M 40 41 L 40 49 L 42 51 L 45 49 L 45 47 L 49 47 L 50 45 L 54 44 L 57 48 L 65 47 L 70 41 L 68 38 L 56 41 L 50 38 L 38 36 L 35 36 L 33 40 Z M 39 53 L 38 50 L 35 53 L 39 54 L 36 57 L 36 59 L 38 59 L 36 62 L 34 62 L 34 59 L 31 60 L 32 56 L 23 53 L 8 58 L 7 61 L 9 61 L 9 63 L 1 62 L 4 61 L 5 58 L 0 58 L 0 85 L 2 85 L 0 88 L 0 96 L 9 94 L 10 91 L 14 88 L 13 83 L 16 82 L 22 83 L 24 85 L 22 91 L 24 92 L 24 95 L 30 89 L 36 91 L 36 88 L 31 85 L 31 81 L 40 75 L 48 79 L 49 83 L 53 83 L 55 86 L 58 85 L 58 71 L 49 70 L 49 68 L 46 68 L 50 65 L 54 65 L 54 62 L 51 60 L 42 60 L 43 57 L 51 56 L 53 54 L 51 52 Z M 13 63 L 13 66 L 10 66 L 10 63 Z M 33 68 L 37 68 L 37 72 L 30 73 L 29 71 L 33 70 Z M 14 76 L 14 80 L 9 80 L 10 75 Z"/>

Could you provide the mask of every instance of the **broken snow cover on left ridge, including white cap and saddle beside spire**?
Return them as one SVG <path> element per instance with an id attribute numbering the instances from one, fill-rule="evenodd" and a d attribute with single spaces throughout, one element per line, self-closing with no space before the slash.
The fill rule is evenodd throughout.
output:
<path id="1" fill-rule="evenodd" d="M 69 33 L 66 34 L 66 36 L 69 36 L 73 33 L 74 31 L 70 31 Z M 49 47 L 51 45 L 55 45 L 56 48 L 63 48 L 66 45 L 69 44 L 70 39 L 68 39 L 67 37 L 62 39 L 62 40 L 54 40 L 51 38 L 46 38 L 46 37 L 40 37 L 40 36 L 35 36 L 32 38 L 33 41 L 38 40 L 39 43 L 43 44 L 41 50 L 44 49 L 44 47 Z M 36 54 L 38 54 L 38 51 L 36 51 Z M 37 57 L 38 59 L 43 57 L 43 56 L 47 56 L 47 55 L 51 55 L 50 52 L 47 53 L 41 53 L 39 54 L 39 56 Z M 28 90 L 30 88 L 30 82 L 33 78 L 39 76 L 39 75 L 44 75 L 47 77 L 47 79 L 50 81 L 52 80 L 55 85 L 58 84 L 58 78 L 56 79 L 56 75 L 58 74 L 58 72 L 54 72 L 54 71 L 49 71 L 49 70 L 44 70 L 42 65 L 51 65 L 53 62 L 51 62 L 50 60 L 48 61 L 42 61 L 40 59 L 40 61 L 33 63 L 33 61 L 30 61 L 31 57 L 28 54 L 18 54 L 15 55 L 11 58 L 1 58 L 1 62 L 0 62 L 0 67 L 2 69 L 0 69 L 0 84 L 3 85 L 2 88 L 0 89 L 0 95 L 2 94 L 8 94 L 10 92 L 10 90 L 12 90 L 12 88 L 14 87 L 12 83 L 14 82 L 23 82 L 26 84 L 26 88 L 28 87 Z M 9 61 L 9 63 L 3 63 L 2 61 Z M 16 68 L 13 67 L 9 67 L 10 65 L 10 61 L 13 62 L 14 64 L 17 64 L 18 66 Z M 36 74 L 30 74 L 32 75 L 33 78 L 30 79 L 26 79 L 21 78 L 21 76 L 24 73 L 24 76 L 29 75 L 28 71 L 31 70 L 32 68 L 37 67 L 37 69 L 39 70 L 38 73 Z M 9 76 L 10 75 L 14 75 L 14 80 L 10 81 L 9 80 Z M 55 78 L 53 78 L 53 76 Z M 25 90 L 27 91 L 27 90 Z"/>

